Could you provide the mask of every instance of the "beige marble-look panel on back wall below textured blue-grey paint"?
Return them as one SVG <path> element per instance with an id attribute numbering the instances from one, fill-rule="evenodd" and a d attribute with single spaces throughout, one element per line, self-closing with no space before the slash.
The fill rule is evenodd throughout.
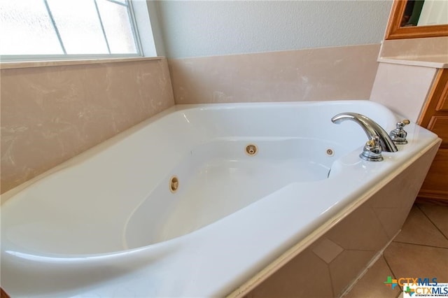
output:
<path id="1" fill-rule="evenodd" d="M 379 44 L 169 59 L 176 104 L 369 99 Z"/>

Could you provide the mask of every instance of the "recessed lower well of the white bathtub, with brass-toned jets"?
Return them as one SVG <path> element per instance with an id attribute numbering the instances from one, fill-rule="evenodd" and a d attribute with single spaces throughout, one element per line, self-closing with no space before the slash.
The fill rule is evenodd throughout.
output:
<path id="1" fill-rule="evenodd" d="M 247 148 L 256 151 L 251 155 Z M 202 144 L 190 150 L 134 211 L 125 229 L 125 245 L 138 248 L 174 239 L 290 183 L 327 179 L 332 162 L 349 150 L 304 138 L 234 138 Z M 170 190 L 173 177 L 178 183 L 175 192 Z"/>

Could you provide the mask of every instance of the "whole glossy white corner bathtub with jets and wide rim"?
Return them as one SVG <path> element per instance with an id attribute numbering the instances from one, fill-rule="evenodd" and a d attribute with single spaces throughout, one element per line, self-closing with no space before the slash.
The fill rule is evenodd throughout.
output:
<path id="1" fill-rule="evenodd" d="M 412 123 L 407 145 L 367 162 L 363 130 L 330 121 L 343 112 L 387 132 L 401 120 L 371 101 L 175 106 L 84 152 L 3 194 L 1 287 L 12 297 L 230 294 L 440 142 Z"/>

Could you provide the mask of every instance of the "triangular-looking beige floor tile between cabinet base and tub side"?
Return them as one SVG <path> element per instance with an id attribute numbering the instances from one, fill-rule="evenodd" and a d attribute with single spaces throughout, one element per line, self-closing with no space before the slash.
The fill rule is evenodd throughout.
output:
<path id="1" fill-rule="evenodd" d="M 448 239 L 417 206 L 413 206 L 394 241 L 448 248 Z"/>

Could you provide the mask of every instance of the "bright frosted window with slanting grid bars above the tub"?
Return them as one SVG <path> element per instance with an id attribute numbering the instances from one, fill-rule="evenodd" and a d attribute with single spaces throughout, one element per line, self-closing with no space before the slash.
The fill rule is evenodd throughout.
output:
<path id="1" fill-rule="evenodd" d="M 3 61 L 141 56 L 129 0 L 0 0 Z"/>

